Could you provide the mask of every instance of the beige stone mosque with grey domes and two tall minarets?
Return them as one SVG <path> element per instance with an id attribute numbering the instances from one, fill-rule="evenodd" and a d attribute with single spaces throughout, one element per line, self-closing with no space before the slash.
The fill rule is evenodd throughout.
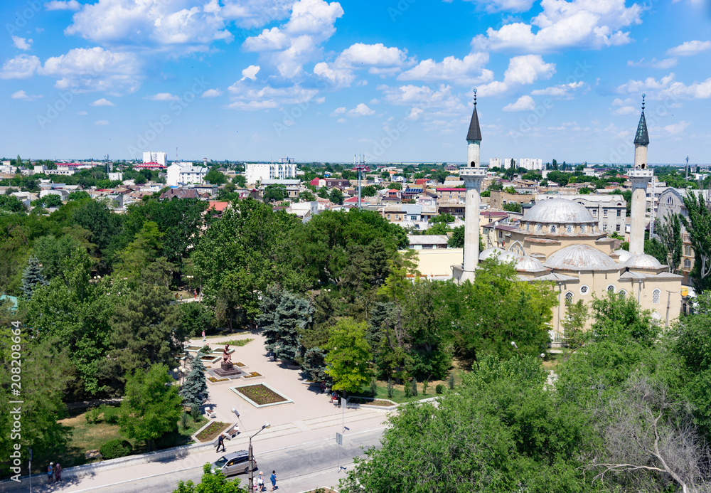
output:
<path id="1" fill-rule="evenodd" d="M 506 250 L 487 248 L 479 253 L 479 203 L 486 169 L 479 161 L 476 91 L 466 141 L 467 164 L 459 172 L 466 186 L 464 262 L 451 266 L 456 282 L 474 280 L 477 263 L 492 257 L 513 263 L 522 281 L 553 282 L 558 293 L 550 329 L 554 344 L 565 337 L 560 321 L 565 319 L 567 304 L 581 299 L 587 304 L 593 296 L 604 297 L 607 292 L 634 296 L 661 323 L 668 325 L 679 316 L 683 277 L 671 274 L 666 265 L 644 253 L 646 186 L 653 176 L 647 166 L 644 99 L 634 138 L 634 169 L 627 174 L 632 184 L 629 252 L 614 250 L 614 240 L 599 230 L 597 220 L 582 204 L 551 198 L 528 209 L 518 228 L 506 233 Z"/>

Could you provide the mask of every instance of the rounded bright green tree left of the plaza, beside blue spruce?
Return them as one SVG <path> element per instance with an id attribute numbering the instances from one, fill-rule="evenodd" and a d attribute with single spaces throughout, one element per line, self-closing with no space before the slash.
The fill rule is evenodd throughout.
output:
<path id="1" fill-rule="evenodd" d="M 119 425 L 128 438 L 144 440 L 151 450 L 154 440 L 178 428 L 183 406 L 175 381 L 164 364 L 136 369 L 126 376 Z"/>

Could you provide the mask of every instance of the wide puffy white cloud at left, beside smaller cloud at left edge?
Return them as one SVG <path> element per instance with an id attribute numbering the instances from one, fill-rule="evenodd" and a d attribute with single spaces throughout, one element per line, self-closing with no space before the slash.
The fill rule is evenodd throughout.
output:
<path id="1" fill-rule="evenodd" d="M 119 53 L 95 48 L 74 48 L 65 55 L 48 58 L 37 72 L 60 77 L 55 88 L 76 92 L 134 92 L 139 61 L 132 53 Z"/>

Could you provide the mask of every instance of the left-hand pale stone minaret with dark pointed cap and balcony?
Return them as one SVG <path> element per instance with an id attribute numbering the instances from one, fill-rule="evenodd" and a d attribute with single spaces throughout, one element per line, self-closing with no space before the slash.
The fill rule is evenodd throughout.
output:
<path id="1" fill-rule="evenodd" d="M 469 132 L 466 134 L 466 165 L 459 169 L 459 177 L 464 180 L 466 198 L 464 208 L 464 272 L 461 282 L 474 282 L 474 269 L 479 262 L 479 204 L 481 203 L 481 182 L 486 177 L 486 169 L 479 162 L 481 129 L 476 115 L 476 89 L 474 90 L 474 112 L 471 113 Z"/>

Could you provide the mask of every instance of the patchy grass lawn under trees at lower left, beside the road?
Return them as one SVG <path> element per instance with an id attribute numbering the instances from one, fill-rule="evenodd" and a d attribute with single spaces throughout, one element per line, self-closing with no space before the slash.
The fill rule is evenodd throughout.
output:
<path id="1" fill-rule="evenodd" d="M 87 423 L 85 418 L 86 413 L 71 413 L 69 418 L 60 420 L 59 423 L 70 428 L 71 435 L 68 445 L 68 450 L 58 457 L 54 462 L 59 462 L 62 467 L 72 467 L 90 462 L 98 462 L 98 460 L 87 460 L 85 453 L 87 450 L 97 450 L 109 440 L 119 438 L 127 440 L 134 447 L 134 454 L 146 452 L 146 447 L 143 442 L 125 438 L 119 431 L 119 425 L 109 425 L 108 423 Z M 185 445 L 190 442 L 191 435 L 200 429 L 208 420 L 205 416 L 201 416 L 196 423 L 193 418 L 188 420 L 188 428 L 184 429 L 178 425 L 178 433 L 173 437 L 175 442 L 173 447 L 177 445 Z"/>

